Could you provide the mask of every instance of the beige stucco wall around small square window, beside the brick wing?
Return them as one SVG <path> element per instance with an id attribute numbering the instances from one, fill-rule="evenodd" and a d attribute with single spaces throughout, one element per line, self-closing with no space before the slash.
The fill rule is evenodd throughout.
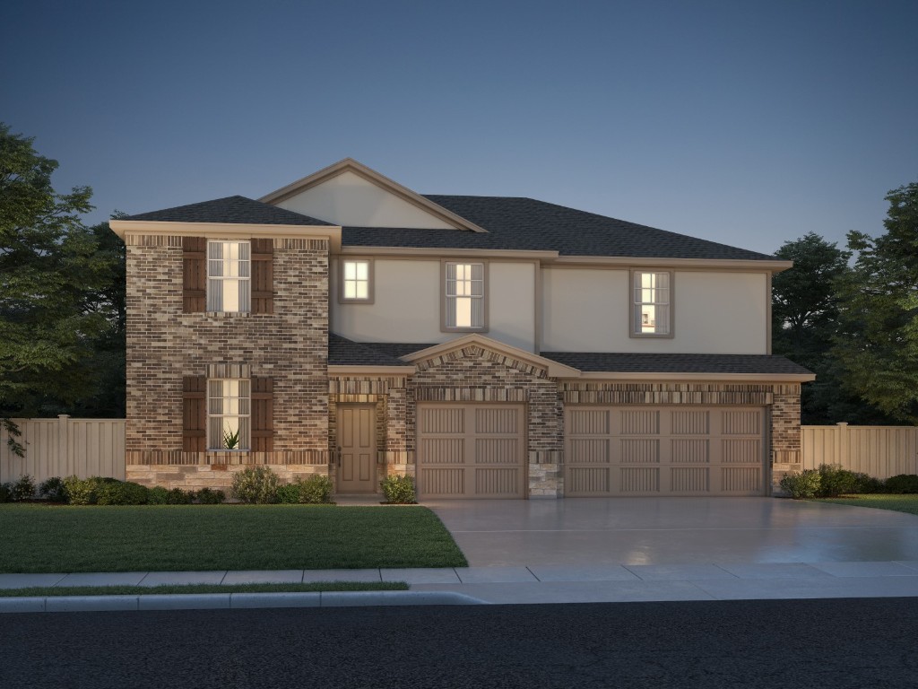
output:
<path id="1" fill-rule="evenodd" d="M 440 261 L 375 258 L 374 303 L 338 303 L 338 266 L 331 265 L 330 328 L 357 342 L 436 344 L 462 333 L 442 333 Z M 535 265 L 490 262 L 488 337 L 533 351 Z"/>

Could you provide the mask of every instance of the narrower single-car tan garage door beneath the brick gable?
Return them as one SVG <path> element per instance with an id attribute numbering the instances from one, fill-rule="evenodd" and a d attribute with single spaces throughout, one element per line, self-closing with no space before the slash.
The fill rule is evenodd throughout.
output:
<path id="1" fill-rule="evenodd" d="M 418 492 L 425 498 L 521 498 L 521 404 L 419 404 Z"/>

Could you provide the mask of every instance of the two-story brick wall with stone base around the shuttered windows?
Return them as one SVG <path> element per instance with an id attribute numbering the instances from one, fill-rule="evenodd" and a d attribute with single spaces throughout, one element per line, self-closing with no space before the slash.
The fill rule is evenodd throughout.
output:
<path id="1" fill-rule="evenodd" d="M 226 487 L 248 463 L 288 478 L 327 471 L 328 241 L 274 240 L 270 314 L 185 313 L 182 238 L 129 234 L 126 243 L 128 479 Z M 273 452 L 183 452 L 183 378 L 224 364 L 274 379 Z"/>

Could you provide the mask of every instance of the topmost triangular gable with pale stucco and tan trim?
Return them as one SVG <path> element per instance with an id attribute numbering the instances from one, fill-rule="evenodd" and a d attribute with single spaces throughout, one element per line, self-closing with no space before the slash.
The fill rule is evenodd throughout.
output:
<path id="1" fill-rule="evenodd" d="M 352 158 L 259 200 L 344 227 L 486 232 Z"/>

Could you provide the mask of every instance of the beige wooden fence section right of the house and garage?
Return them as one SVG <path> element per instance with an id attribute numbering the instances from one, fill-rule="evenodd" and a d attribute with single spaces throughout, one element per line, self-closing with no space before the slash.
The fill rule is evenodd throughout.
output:
<path id="1" fill-rule="evenodd" d="M 803 469 L 840 464 L 878 479 L 918 474 L 918 427 L 801 426 Z"/>

